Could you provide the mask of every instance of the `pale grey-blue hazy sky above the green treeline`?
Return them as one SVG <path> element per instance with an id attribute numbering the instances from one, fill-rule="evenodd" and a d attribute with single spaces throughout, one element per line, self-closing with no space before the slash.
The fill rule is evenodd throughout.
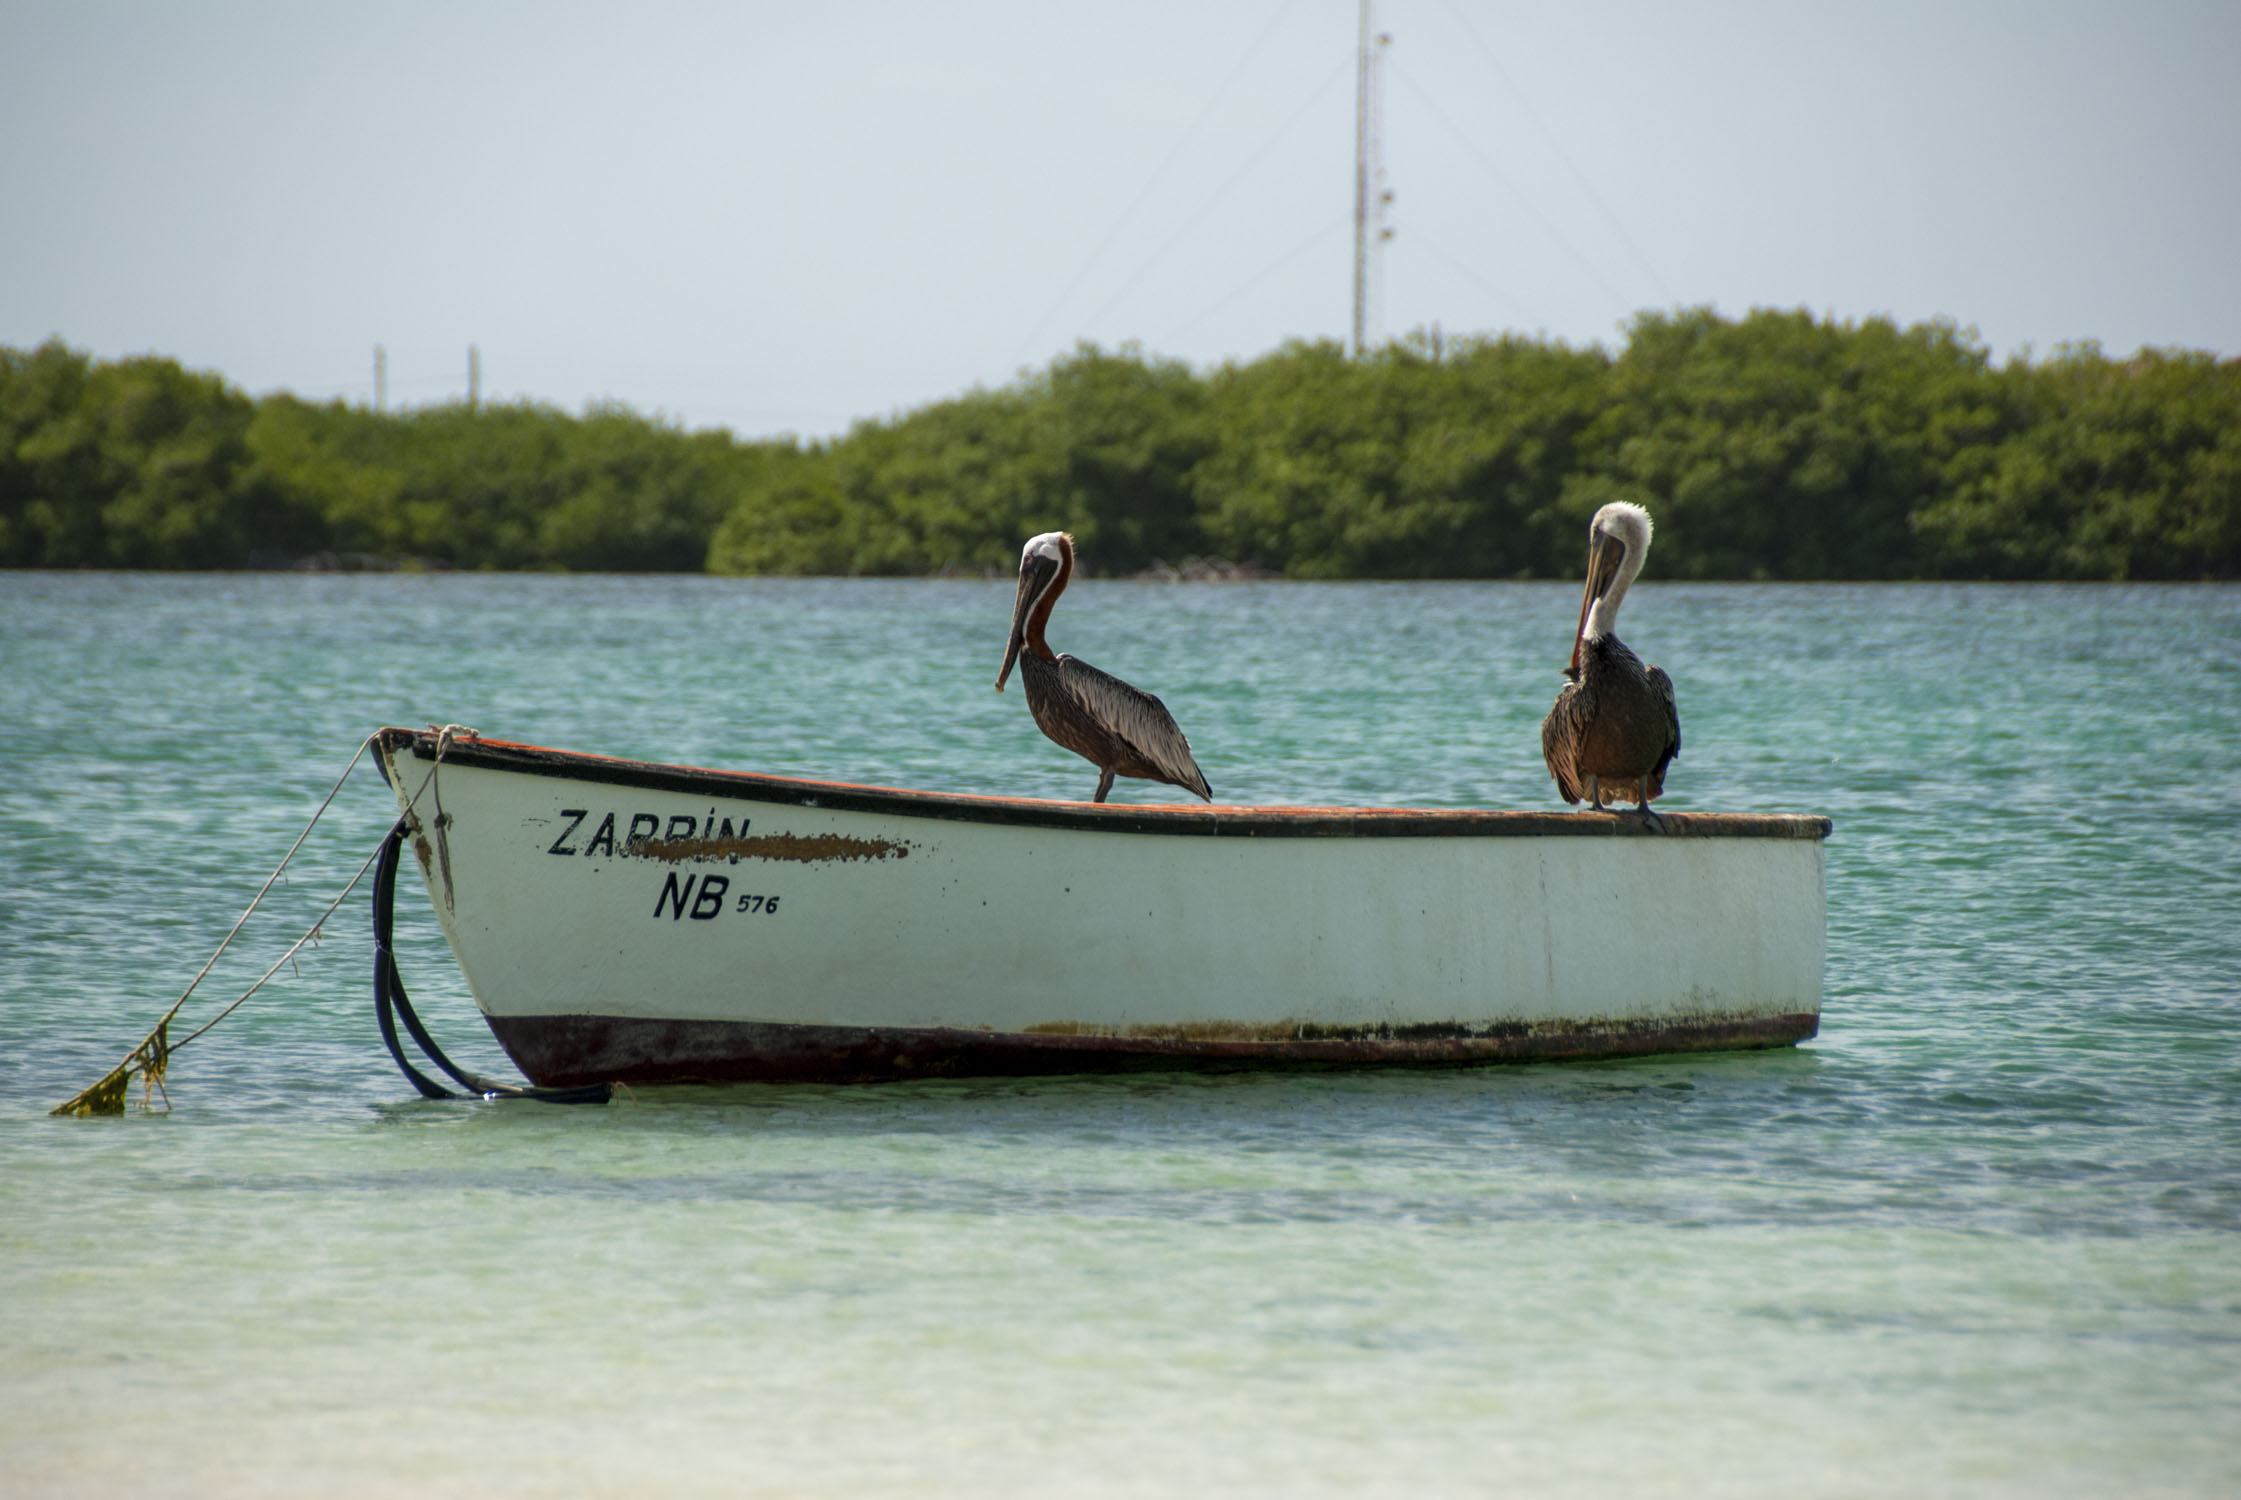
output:
<path id="1" fill-rule="evenodd" d="M 1376 327 L 2241 352 L 2232 0 L 1378 0 Z M 822 435 L 1351 316 L 1356 0 L 0 4 L 0 343 Z"/>

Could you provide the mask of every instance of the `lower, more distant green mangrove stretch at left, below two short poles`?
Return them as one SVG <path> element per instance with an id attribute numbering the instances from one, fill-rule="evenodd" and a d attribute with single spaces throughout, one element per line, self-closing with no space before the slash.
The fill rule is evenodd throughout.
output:
<path id="1" fill-rule="evenodd" d="M 264 401 L 168 359 L 0 350 L 0 565 L 697 572 L 793 444 L 630 410 Z"/>

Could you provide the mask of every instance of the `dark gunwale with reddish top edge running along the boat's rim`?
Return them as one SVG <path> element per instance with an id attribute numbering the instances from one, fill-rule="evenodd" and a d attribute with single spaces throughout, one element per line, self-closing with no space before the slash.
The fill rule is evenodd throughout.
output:
<path id="1" fill-rule="evenodd" d="M 374 735 L 385 753 L 437 760 L 435 731 L 388 726 Z M 1181 834 L 1228 839 L 1829 839 L 1817 814 L 1661 812 L 1658 830 L 1629 812 L 1495 812 L 1481 807 L 1239 807 L 1062 803 L 970 791 L 912 791 L 838 780 L 717 771 L 708 767 L 625 760 L 518 740 L 453 733 L 444 765 L 585 780 L 645 791 L 688 791 L 748 803 L 834 812 L 870 812 L 950 823 L 993 823 L 1100 834 Z M 388 762 L 381 762 L 388 776 Z"/>

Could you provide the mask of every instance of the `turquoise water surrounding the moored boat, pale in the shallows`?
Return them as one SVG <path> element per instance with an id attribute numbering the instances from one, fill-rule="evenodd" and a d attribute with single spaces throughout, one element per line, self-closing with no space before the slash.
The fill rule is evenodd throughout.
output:
<path id="1" fill-rule="evenodd" d="M 1663 805 L 1835 818 L 1797 1052 L 424 1103 L 352 897 L 170 1114 L 45 1117 L 385 722 L 1087 796 L 991 691 L 1008 605 L 0 574 L 0 1489 L 2241 1491 L 2234 587 L 1636 587 Z M 1087 583 L 1051 637 L 1224 800 L 1551 807 L 1575 608 Z M 190 1022 L 390 809 L 361 767 Z"/>

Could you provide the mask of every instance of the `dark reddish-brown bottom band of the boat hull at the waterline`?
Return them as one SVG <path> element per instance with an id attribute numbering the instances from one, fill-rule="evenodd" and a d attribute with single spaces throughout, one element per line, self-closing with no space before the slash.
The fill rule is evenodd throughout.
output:
<path id="1" fill-rule="evenodd" d="M 1237 1067 L 1466 1067 L 1791 1047 L 1820 1029 L 1811 1011 L 1701 1020 L 1596 1020 L 1468 1029 L 1376 1027 L 1347 1036 L 1098 1036 L 957 1027 L 811 1027 L 751 1020 L 489 1016 L 536 1083 L 894 1083 L 1031 1074 Z M 1262 1027 L 1255 1027 L 1255 1031 Z M 1246 1031 L 1246 1027 L 1239 1027 Z"/>

